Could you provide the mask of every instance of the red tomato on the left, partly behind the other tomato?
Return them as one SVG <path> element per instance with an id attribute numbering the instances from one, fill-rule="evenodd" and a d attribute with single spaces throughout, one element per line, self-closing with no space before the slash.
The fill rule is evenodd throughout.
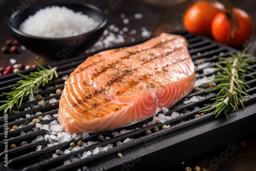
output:
<path id="1" fill-rule="evenodd" d="M 191 5 L 185 12 L 183 24 L 187 31 L 196 34 L 211 36 L 211 22 L 215 15 L 219 13 L 218 9 L 224 6 L 218 2 L 199 1 Z"/>

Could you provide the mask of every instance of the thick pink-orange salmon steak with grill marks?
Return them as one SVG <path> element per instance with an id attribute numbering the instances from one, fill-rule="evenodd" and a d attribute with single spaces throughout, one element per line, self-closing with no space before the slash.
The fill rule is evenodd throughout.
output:
<path id="1" fill-rule="evenodd" d="M 65 82 L 58 121 L 72 134 L 112 130 L 170 108 L 194 84 L 186 39 L 162 33 L 88 57 Z"/>

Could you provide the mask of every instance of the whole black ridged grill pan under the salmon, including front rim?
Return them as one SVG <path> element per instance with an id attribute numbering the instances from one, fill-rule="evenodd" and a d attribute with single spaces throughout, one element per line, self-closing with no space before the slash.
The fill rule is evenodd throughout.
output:
<path id="1" fill-rule="evenodd" d="M 238 53 L 239 51 L 221 44 L 218 44 L 211 39 L 194 35 L 188 32 L 179 32 L 188 41 L 188 49 L 191 58 L 196 66 L 199 65 L 200 60 L 204 62 L 216 62 L 220 56 L 227 57 L 230 53 Z M 139 44 L 143 40 L 135 42 L 127 42 L 122 45 L 118 45 L 112 48 L 120 48 L 125 46 L 132 46 Z M 105 49 L 104 49 L 105 50 Z M 97 52 L 95 52 L 97 53 Z M 76 58 L 60 61 L 57 63 L 57 72 L 59 78 L 51 81 L 46 88 L 41 88 L 39 94 L 43 99 L 50 100 L 51 98 L 60 98 L 61 94 L 55 94 L 57 89 L 63 89 L 64 80 L 62 76 L 69 75 L 81 62 L 83 62 L 87 56 L 91 56 L 95 53 L 79 56 Z M 207 67 L 214 67 L 207 66 Z M 250 66 L 256 68 L 256 64 Z M 23 71 L 22 74 L 29 75 L 30 72 L 34 72 L 35 69 Z M 203 76 L 210 76 L 211 74 L 204 74 L 203 68 L 197 68 L 196 77 L 201 78 Z M 250 75 L 256 76 L 256 72 L 250 73 Z M 10 74 L 0 77 L 0 92 L 10 92 L 12 87 L 17 87 L 16 81 L 22 79 L 17 74 Z M 61 154 L 56 158 L 52 158 L 56 149 L 67 149 L 71 142 L 77 143 L 78 140 L 71 140 L 62 142 L 57 145 L 47 146 L 49 140 L 39 140 L 32 143 L 32 141 L 39 135 L 44 135 L 46 130 L 32 131 L 28 134 L 22 134 L 22 132 L 28 132 L 35 127 L 35 124 L 28 124 L 34 118 L 38 116 L 50 115 L 52 118 L 49 120 L 42 120 L 39 123 L 49 124 L 51 121 L 56 120 L 53 117 L 58 111 L 58 101 L 39 106 L 38 108 L 30 108 L 31 105 L 37 104 L 38 101 L 29 101 L 28 97 L 24 98 L 20 112 L 11 114 L 8 116 L 8 126 L 23 125 L 14 131 L 8 132 L 8 167 L 4 166 L 4 150 L 0 153 L 1 164 L 0 170 L 159 170 L 167 169 L 168 167 L 181 163 L 182 161 L 191 159 L 193 157 L 202 155 L 220 146 L 223 146 L 229 142 L 240 139 L 256 132 L 256 127 L 253 126 L 256 121 L 255 114 L 255 100 L 256 100 L 256 79 L 245 77 L 246 83 L 251 87 L 247 93 L 251 95 L 251 98 L 244 101 L 245 110 L 240 110 L 230 113 L 229 119 L 224 118 L 215 119 L 212 113 L 205 114 L 199 118 L 194 118 L 199 111 L 205 109 L 204 104 L 212 103 L 210 99 L 215 97 L 215 94 L 210 94 L 205 98 L 197 101 L 184 104 L 182 103 L 186 99 L 193 96 L 204 96 L 206 90 L 200 92 L 191 92 L 188 96 L 181 99 L 173 108 L 169 109 L 165 115 L 171 115 L 174 111 L 183 113 L 188 110 L 190 112 L 180 115 L 176 118 L 168 120 L 164 123 L 153 124 L 143 127 L 143 125 L 152 120 L 148 118 L 144 121 L 138 122 L 134 125 L 124 126 L 121 129 L 115 129 L 113 131 L 118 132 L 121 130 L 136 129 L 135 131 L 125 133 L 116 137 L 113 137 L 111 133 L 113 131 L 106 131 L 98 134 L 90 134 L 89 137 L 83 139 L 83 142 L 87 141 L 99 141 L 98 135 L 101 134 L 104 137 L 111 137 L 108 140 L 99 141 L 98 143 L 79 149 L 78 151 L 72 151 L 69 154 Z M 0 100 L 4 100 L 5 96 L 1 93 Z M 194 106 L 199 106 L 199 109 L 193 110 Z M 26 108 L 28 110 L 24 111 Z M 37 112 L 41 112 L 39 115 L 35 115 Z M 33 114 L 34 116 L 26 118 L 26 114 Z M 19 119 L 24 118 L 24 119 Z M 154 127 L 161 128 L 163 124 L 170 125 L 167 129 L 160 129 L 158 132 L 154 132 Z M 4 145 L 4 117 L 0 117 L 0 137 L 3 141 L 0 142 L 2 149 Z M 145 131 L 151 130 L 152 134 L 146 135 Z M 229 131 L 232 130 L 232 131 Z M 116 145 L 118 141 L 123 141 L 126 138 L 132 138 L 132 141 Z M 201 143 L 202 140 L 204 143 Z M 27 145 L 20 146 L 22 141 L 27 141 Z M 10 145 L 15 143 L 16 148 L 11 149 Z M 104 152 L 99 152 L 95 155 L 88 156 L 83 159 L 77 159 L 77 156 L 85 151 L 92 151 L 96 147 L 104 147 L 108 144 L 114 144 L 113 148 Z M 200 144 L 200 145 L 199 145 Z M 45 145 L 46 147 L 36 151 L 38 145 Z M 121 153 L 122 157 L 118 157 L 117 154 Z M 68 164 L 63 164 L 65 161 L 71 160 Z"/>

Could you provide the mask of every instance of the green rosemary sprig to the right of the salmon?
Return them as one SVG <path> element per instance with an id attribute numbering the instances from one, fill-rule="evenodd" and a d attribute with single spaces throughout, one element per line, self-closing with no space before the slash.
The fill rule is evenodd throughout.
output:
<path id="1" fill-rule="evenodd" d="M 253 77 L 248 75 L 253 69 L 249 68 L 249 63 L 256 62 L 256 57 L 250 57 L 246 55 L 245 52 L 250 46 L 246 47 L 241 53 L 233 54 L 231 53 L 229 57 L 221 57 L 223 60 L 223 67 L 216 63 L 216 67 L 222 72 L 221 75 L 215 76 L 212 80 L 216 82 L 217 86 L 212 88 L 207 92 L 219 91 L 216 98 L 211 100 L 216 100 L 216 103 L 210 108 L 205 109 L 200 112 L 209 112 L 214 110 L 214 115 L 216 118 L 221 114 L 225 115 L 228 119 L 227 113 L 232 111 L 238 111 L 239 105 L 242 105 L 244 109 L 243 101 L 246 98 L 250 98 L 246 90 L 250 88 L 248 84 L 245 84 L 245 79 L 243 76 Z"/>

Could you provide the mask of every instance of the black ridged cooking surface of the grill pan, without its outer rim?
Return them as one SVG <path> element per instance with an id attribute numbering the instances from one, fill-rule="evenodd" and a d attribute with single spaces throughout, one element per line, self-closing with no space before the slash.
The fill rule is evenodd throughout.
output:
<path id="1" fill-rule="evenodd" d="M 182 33 L 182 35 L 187 39 L 189 43 L 189 53 L 192 59 L 194 60 L 196 66 L 199 65 L 202 59 L 204 60 L 204 63 L 217 62 L 220 56 L 227 57 L 230 52 L 236 52 L 236 50 L 234 49 L 218 45 L 214 41 L 211 41 L 203 37 L 195 36 L 194 34 Z M 62 142 L 53 146 L 47 146 L 47 144 L 49 144 L 49 140 L 45 138 L 40 139 L 38 141 L 33 141 L 40 135 L 44 136 L 47 131 L 44 129 L 37 130 L 36 124 L 29 123 L 33 119 L 38 118 L 38 116 L 46 118 L 46 120 L 38 122 L 42 125 L 49 124 L 54 120 L 57 121 L 56 114 L 58 112 L 58 100 L 61 94 L 56 94 L 56 90 L 63 89 L 63 83 L 65 82 L 65 80 L 63 80 L 62 77 L 69 75 L 81 62 L 85 60 L 85 58 L 86 57 L 78 57 L 60 62 L 57 70 L 59 78 L 48 84 L 47 88 L 42 88 L 42 90 L 39 92 L 39 94 L 42 96 L 42 99 L 36 101 L 29 101 L 29 98 L 25 97 L 22 107 L 18 110 L 20 112 L 8 116 L 9 127 L 12 128 L 12 126 L 14 125 L 20 126 L 20 128 L 8 132 L 9 169 L 11 168 L 14 170 L 33 170 L 36 168 L 41 168 L 41 170 L 86 170 L 86 168 L 90 169 L 90 166 L 95 165 L 99 160 L 104 160 L 104 158 L 110 156 L 117 156 L 117 154 L 120 152 L 125 153 L 126 151 L 129 151 L 135 146 L 139 147 L 140 145 L 144 144 L 145 141 L 153 141 L 152 139 L 148 138 L 148 135 L 145 134 L 146 130 L 151 130 L 152 134 L 155 134 L 156 137 L 158 137 L 158 135 L 161 135 L 158 137 L 159 140 L 161 140 L 162 137 L 172 135 L 174 132 L 181 131 L 191 126 L 192 122 L 193 124 L 200 124 L 202 122 L 214 119 L 212 113 L 208 113 L 204 116 L 194 119 L 194 116 L 199 114 L 199 111 L 206 108 L 205 104 L 212 103 L 210 99 L 216 96 L 214 93 L 206 94 L 205 91 L 211 88 L 205 88 L 202 89 L 203 91 L 191 92 L 187 97 L 183 98 L 182 100 L 180 100 L 180 102 L 173 106 L 172 109 L 169 109 L 169 111 L 165 113 L 166 116 L 171 116 L 173 112 L 184 114 L 179 115 L 178 117 L 175 117 L 173 119 L 167 120 L 164 123 L 146 125 L 147 122 L 151 122 L 153 119 L 149 118 L 134 125 L 122 127 L 121 129 L 102 132 L 98 134 L 90 134 L 90 136 L 85 139 L 79 138 L 77 140 Z M 204 69 L 214 67 L 214 64 L 211 63 L 206 67 L 197 68 L 197 79 L 204 78 L 205 76 L 211 76 L 212 73 L 204 73 Z M 256 64 L 252 65 L 251 68 L 255 69 Z M 35 70 L 24 71 L 23 74 L 29 74 L 29 72 L 31 71 Z M 253 72 L 250 75 L 256 76 L 256 72 Z M 15 74 L 1 77 L 0 91 L 11 91 L 12 87 L 17 86 L 16 81 L 18 81 L 19 79 L 22 78 Z M 247 93 L 251 95 L 252 98 L 248 101 L 245 101 L 245 105 L 254 102 L 256 99 L 256 87 L 254 86 L 256 83 L 256 79 L 251 79 L 247 77 L 246 83 L 248 83 L 249 86 L 251 87 L 251 89 L 249 89 Z M 198 101 L 193 101 L 190 103 L 184 102 L 188 99 L 193 98 L 194 96 L 200 96 L 203 98 L 199 99 Z M 0 99 L 3 100 L 4 98 L 5 96 L 1 93 Z M 44 106 L 32 108 L 32 106 L 37 106 L 37 103 L 41 100 L 51 101 L 51 99 L 56 99 L 56 101 L 52 101 L 52 103 L 45 104 Z M 194 106 L 198 106 L 198 108 L 194 108 Z M 24 109 L 26 109 L 26 111 L 24 111 Z M 26 117 L 27 114 L 33 114 L 34 116 Z M 48 119 L 46 116 L 48 117 Z M 0 124 L 0 137 L 2 139 L 5 139 L 4 117 L 0 118 Z M 168 127 L 167 129 L 162 129 L 162 125 L 164 124 L 170 125 L 170 127 Z M 159 127 L 160 131 L 154 132 L 154 127 L 156 126 Z M 140 129 L 136 129 L 137 127 L 140 127 Z M 120 132 L 122 130 L 133 129 L 134 131 L 127 131 L 127 133 L 115 137 L 112 134 L 113 132 Z M 110 139 L 99 140 L 98 135 L 100 134 L 103 135 L 104 137 L 110 137 Z M 127 138 L 129 138 L 131 141 L 117 145 L 118 141 L 123 142 L 124 140 L 127 140 Z M 77 141 L 81 139 L 84 143 L 87 143 L 88 141 L 96 143 L 77 149 L 77 151 L 71 151 L 68 154 L 61 154 L 56 158 L 52 157 L 56 149 L 65 151 L 65 149 L 69 149 L 71 142 L 75 142 L 75 144 L 77 144 Z M 28 144 L 21 146 L 20 143 L 22 143 L 23 141 L 27 141 Z M 16 144 L 17 147 L 11 149 L 11 144 L 13 143 Z M 108 146 L 108 144 L 113 144 L 113 148 L 110 148 L 107 151 L 99 152 L 95 155 L 89 155 L 88 157 L 81 159 L 81 156 L 84 152 L 93 152 L 97 147 L 105 147 Z M 46 147 L 40 149 L 39 151 L 36 151 L 36 147 L 38 147 L 38 145 L 44 145 Z M 0 146 L 2 149 L 4 148 L 4 141 L 0 142 Z M 0 155 L 3 160 L 5 154 L 1 153 Z"/>

